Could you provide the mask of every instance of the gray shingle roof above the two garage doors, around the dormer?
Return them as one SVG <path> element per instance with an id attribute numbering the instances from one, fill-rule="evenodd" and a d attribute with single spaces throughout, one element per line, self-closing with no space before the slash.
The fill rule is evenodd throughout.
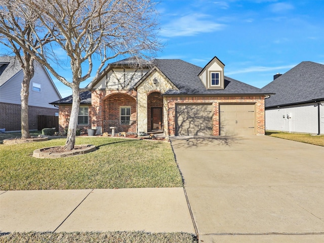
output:
<path id="1" fill-rule="evenodd" d="M 154 64 L 171 80 L 180 91 L 167 94 L 192 95 L 235 95 L 266 94 L 264 90 L 224 76 L 224 90 L 207 90 L 198 74 L 203 68 L 179 59 L 155 59 Z"/>

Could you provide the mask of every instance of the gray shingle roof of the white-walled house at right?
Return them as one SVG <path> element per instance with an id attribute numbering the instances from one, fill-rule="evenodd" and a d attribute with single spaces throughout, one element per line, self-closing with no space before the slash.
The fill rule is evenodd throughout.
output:
<path id="1" fill-rule="evenodd" d="M 324 65 L 304 61 L 262 88 L 275 95 L 266 99 L 266 107 L 324 100 Z"/>

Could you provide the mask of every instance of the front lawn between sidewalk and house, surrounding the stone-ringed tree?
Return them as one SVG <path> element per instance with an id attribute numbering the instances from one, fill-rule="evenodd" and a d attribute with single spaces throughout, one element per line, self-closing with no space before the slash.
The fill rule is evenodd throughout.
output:
<path id="1" fill-rule="evenodd" d="M 97 150 L 67 158 L 34 158 L 33 150 L 64 145 L 53 139 L 0 145 L 0 190 L 181 187 L 171 145 L 121 138 L 76 138 Z"/>

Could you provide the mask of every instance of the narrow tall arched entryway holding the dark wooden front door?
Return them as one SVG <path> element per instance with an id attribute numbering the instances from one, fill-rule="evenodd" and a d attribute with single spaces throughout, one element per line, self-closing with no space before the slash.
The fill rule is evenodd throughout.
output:
<path id="1" fill-rule="evenodd" d="M 160 92 L 147 96 L 147 131 L 163 131 L 163 97 Z"/>

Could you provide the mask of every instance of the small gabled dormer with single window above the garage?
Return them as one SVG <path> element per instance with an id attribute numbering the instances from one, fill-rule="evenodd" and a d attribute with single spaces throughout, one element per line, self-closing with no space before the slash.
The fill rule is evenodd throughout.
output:
<path id="1" fill-rule="evenodd" d="M 216 56 L 198 74 L 208 90 L 224 89 L 224 66 Z"/>

